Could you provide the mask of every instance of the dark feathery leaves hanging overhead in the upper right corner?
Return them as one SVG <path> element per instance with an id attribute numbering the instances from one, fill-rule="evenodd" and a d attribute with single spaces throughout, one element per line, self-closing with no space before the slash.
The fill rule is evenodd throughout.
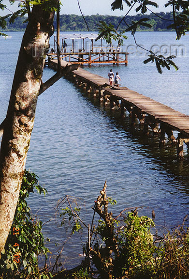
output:
<path id="1" fill-rule="evenodd" d="M 142 14 L 145 14 L 147 10 L 149 10 L 148 6 L 152 6 L 155 8 L 158 7 L 158 4 L 156 2 L 149 1 L 149 0 L 131 0 L 131 1 L 124 0 L 124 2 L 130 7 L 129 12 L 131 11 L 134 4 L 139 4 L 135 9 L 135 11 L 136 12 L 141 11 Z M 123 0 L 115 0 L 111 4 L 111 6 L 113 11 L 116 9 L 123 10 Z M 167 6 L 173 7 L 173 22 L 174 22 L 173 24 L 169 25 L 168 28 L 174 29 L 176 31 L 176 35 L 177 35 L 176 39 L 179 40 L 182 35 L 185 35 L 186 32 L 189 31 L 189 1 L 169 0 L 165 4 L 165 7 Z M 148 18 L 141 18 L 138 21 L 132 21 L 130 24 L 128 24 L 126 22 L 126 16 L 128 15 L 128 13 L 121 20 L 124 21 L 127 26 L 124 32 L 131 31 L 131 35 L 134 37 L 135 32 L 138 30 L 140 26 L 147 27 L 147 28 L 152 27 L 151 24 L 147 22 L 149 20 Z M 127 39 L 127 36 L 124 35 L 123 31 L 119 33 L 117 32 L 120 22 L 117 28 L 115 28 L 112 24 L 107 25 L 105 22 L 100 21 L 99 36 L 96 40 L 103 38 L 106 41 L 106 43 L 111 44 L 112 39 L 114 39 L 118 41 L 119 46 L 123 45 L 123 39 Z M 141 47 L 137 44 L 135 37 L 134 37 L 134 41 L 138 47 Z M 162 74 L 162 68 L 167 68 L 168 70 L 170 70 L 171 67 L 174 67 L 176 71 L 178 70 L 178 66 L 173 62 L 173 59 L 175 58 L 174 55 L 171 55 L 169 57 L 164 57 L 163 55 L 156 55 L 155 53 L 147 49 L 145 49 L 145 51 L 148 51 L 150 54 L 148 55 L 149 58 L 144 61 L 144 64 L 148 62 L 152 62 L 152 63 L 155 62 L 156 68 L 160 74 Z"/>

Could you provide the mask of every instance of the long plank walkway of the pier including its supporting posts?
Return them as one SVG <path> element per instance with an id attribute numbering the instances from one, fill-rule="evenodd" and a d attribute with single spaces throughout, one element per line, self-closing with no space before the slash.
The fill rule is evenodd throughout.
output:
<path id="1" fill-rule="evenodd" d="M 51 61 L 49 66 L 57 67 L 57 60 Z M 61 67 L 67 62 L 61 61 Z M 109 85 L 108 78 L 89 73 L 85 69 L 78 68 L 71 72 L 68 78 L 79 87 L 99 96 L 104 105 L 109 104 L 111 109 L 120 110 L 120 116 L 125 116 L 125 110 L 131 114 L 131 123 L 136 124 L 136 119 L 143 126 L 144 134 L 148 134 L 151 128 L 153 133 L 160 134 L 160 146 L 165 144 L 165 133 L 172 144 L 177 147 L 177 158 L 184 159 L 184 143 L 189 152 L 189 115 L 185 115 L 168 106 L 165 106 L 143 94 L 128 89 L 127 87 L 115 87 Z M 177 138 L 173 131 L 177 131 Z"/>

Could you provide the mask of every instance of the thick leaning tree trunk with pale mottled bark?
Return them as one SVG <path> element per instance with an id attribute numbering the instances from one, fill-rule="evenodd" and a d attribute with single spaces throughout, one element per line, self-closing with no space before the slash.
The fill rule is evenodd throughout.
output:
<path id="1" fill-rule="evenodd" d="M 54 12 L 33 7 L 16 65 L 0 149 L 0 251 L 15 215 L 53 19 Z"/>

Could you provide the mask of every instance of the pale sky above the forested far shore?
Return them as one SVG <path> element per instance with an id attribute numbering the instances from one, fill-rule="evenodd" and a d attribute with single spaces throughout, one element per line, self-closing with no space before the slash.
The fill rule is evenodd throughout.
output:
<path id="1" fill-rule="evenodd" d="M 150 8 L 153 12 L 170 12 L 170 8 L 165 8 L 164 4 L 166 3 L 165 0 L 154 0 L 158 3 L 159 8 L 156 9 L 154 7 Z M 85 16 L 87 15 L 112 15 L 112 16 L 123 16 L 128 11 L 128 6 L 124 3 L 123 11 L 115 10 L 111 11 L 111 3 L 113 0 L 79 0 L 81 10 Z M 124 1 L 123 1 L 124 2 Z M 3 0 L 3 4 L 8 4 L 8 0 Z M 77 0 L 61 0 L 61 12 L 60 14 L 67 14 L 67 15 L 81 15 L 78 7 Z M 10 10 L 15 12 L 17 10 L 17 3 L 9 6 Z M 8 11 L 0 11 L 0 16 L 4 16 L 7 14 Z M 133 10 L 130 12 L 129 15 L 135 15 L 135 11 Z"/>

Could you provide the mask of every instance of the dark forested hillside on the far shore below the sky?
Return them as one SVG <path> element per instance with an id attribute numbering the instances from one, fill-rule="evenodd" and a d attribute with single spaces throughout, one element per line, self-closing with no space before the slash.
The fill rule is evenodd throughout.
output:
<path id="1" fill-rule="evenodd" d="M 156 16 L 157 15 L 157 16 Z M 156 15 L 142 15 L 138 14 L 136 16 L 127 16 L 126 21 L 130 24 L 132 21 L 138 21 L 141 18 L 147 17 L 149 18 L 149 23 L 152 25 L 152 28 L 140 27 L 138 31 L 167 31 L 167 26 L 169 26 L 172 22 L 170 20 L 173 19 L 173 13 L 157 13 Z M 165 19 L 161 19 L 161 18 Z M 106 24 L 113 24 L 115 27 L 121 20 L 121 16 L 101 16 L 101 15 L 92 15 L 86 16 L 87 25 L 90 31 L 98 31 L 98 23 L 100 20 L 106 22 Z M 18 17 L 15 20 L 14 24 L 7 23 L 6 31 L 24 31 L 27 25 L 27 22 L 23 23 L 26 18 Z M 56 27 L 56 16 L 55 16 L 55 27 Z M 124 21 L 121 22 L 119 31 L 126 29 Z M 77 15 L 61 15 L 60 16 L 60 31 L 87 31 L 86 24 L 83 20 L 82 16 Z M 170 31 L 168 29 L 168 31 Z"/>

